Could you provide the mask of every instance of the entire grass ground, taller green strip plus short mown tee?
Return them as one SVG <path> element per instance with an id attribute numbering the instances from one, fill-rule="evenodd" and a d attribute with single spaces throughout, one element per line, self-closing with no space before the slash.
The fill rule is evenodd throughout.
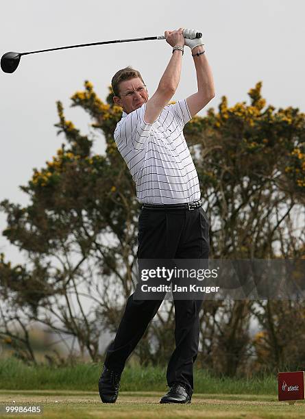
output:
<path id="1" fill-rule="evenodd" d="M 117 403 L 100 401 L 97 383 L 101 364 L 27 366 L 17 359 L 0 359 L 0 404 L 40 405 L 42 415 L 7 418 L 304 418 L 303 402 L 279 403 L 275 374 L 263 377 L 214 377 L 195 369 L 191 405 L 160 405 L 167 392 L 166 370 L 161 367 L 125 368 Z M 39 390 L 37 390 L 39 389 Z M 80 391 L 82 390 L 82 391 Z M 147 391 L 149 390 L 149 392 Z"/>

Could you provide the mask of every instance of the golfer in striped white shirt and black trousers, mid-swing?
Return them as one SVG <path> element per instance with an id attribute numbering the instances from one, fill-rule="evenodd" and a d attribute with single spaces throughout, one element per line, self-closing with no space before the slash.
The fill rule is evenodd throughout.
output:
<path id="1" fill-rule="evenodd" d="M 195 38 L 195 31 L 185 29 L 184 35 Z M 138 201 L 143 203 L 138 220 L 138 259 L 208 259 L 208 220 L 182 130 L 215 92 L 202 38 L 184 39 L 184 35 L 182 28 L 165 31 L 173 48 L 171 59 L 151 99 L 141 74 L 133 68 L 123 68 L 112 78 L 114 103 L 123 107 L 114 140 L 136 183 Z M 184 45 L 193 55 L 198 91 L 167 105 L 180 81 Z M 117 400 L 125 361 L 161 303 L 139 301 L 133 294 L 128 299 L 99 379 L 103 403 Z M 191 403 L 201 303 L 174 300 L 175 351 L 167 368 L 170 390 L 160 403 Z"/>

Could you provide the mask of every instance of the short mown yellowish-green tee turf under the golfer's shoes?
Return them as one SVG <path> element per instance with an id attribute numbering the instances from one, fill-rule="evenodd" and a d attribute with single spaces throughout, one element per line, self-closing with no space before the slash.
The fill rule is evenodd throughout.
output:
<path id="1" fill-rule="evenodd" d="M 42 415 L 25 418 L 305 418 L 304 403 L 279 403 L 276 396 L 245 394 L 194 394 L 190 405 L 160 405 L 161 392 L 120 392 L 117 403 L 101 403 L 97 392 L 62 390 L 0 390 L 0 403 L 40 405 Z M 13 404 L 13 401 L 15 402 Z M 20 418 L 18 415 L 2 417 Z"/>

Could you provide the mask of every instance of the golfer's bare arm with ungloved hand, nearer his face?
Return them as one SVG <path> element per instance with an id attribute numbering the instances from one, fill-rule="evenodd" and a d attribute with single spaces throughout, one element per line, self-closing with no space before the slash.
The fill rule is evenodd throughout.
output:
<path id="1" fill-rule="evenodd" d="M 182 35 L 182 28 L 176 31 L 165 31 L 165 39 L 171 45 L 179 45 L 184 47 L 184 36 Z M 151 99 L 147 101 L 146 112 L 144 120 L 146 123 L 152 124 L 160 115 L 164 106 L 169 103 L 175 90 L 178 88 L 181 75 L 182 66 L 182 51 L 176 49 L 169 60 L 169 64 L 162 75 L 158 88 Z"/>

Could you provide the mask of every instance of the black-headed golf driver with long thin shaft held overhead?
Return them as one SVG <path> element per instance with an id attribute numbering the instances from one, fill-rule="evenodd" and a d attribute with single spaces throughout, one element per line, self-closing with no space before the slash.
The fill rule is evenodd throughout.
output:
<path id="1" fill-rule="evenodd" d="M 184 31 L 182 31 L 184 35 Z M 202 34 L 197 32 L 193 38 L 201 38 Z M 186 36 L 184 35 L 184 38 Z M 16 53 L 16 52 L 8 52 L 2 55 L 1 58 L 1 68 L 4 73 L 14 73 L 16 68 L 19 66 L 19 62 L 22 55 L 29 55 L 29 54 L 37 54 L 41 52 L 47 51 L 57 51 L 58 49 L 69 49 L 69 48 L 79 48 L 79 47 L 90 47 L 92 45 L 106 45 L 106 44 L 116 44 L 117 42 L 133 42 L 139 40 L 155 40 L 155 39 L 165 39 L 165 36 L 147 36 L 146 38 L 132 38 L 132 39 L 117 39 L 112 41 L 103 41 L 103 42 L 93 42 L 91 44 L 81 44 L 81 45 L 70 45 L 69 47 L 58 47 L 58 48 L 50 48 L 50 49 L 42 49 L 40 51 L 31 51 L 26 53 Z"/>

